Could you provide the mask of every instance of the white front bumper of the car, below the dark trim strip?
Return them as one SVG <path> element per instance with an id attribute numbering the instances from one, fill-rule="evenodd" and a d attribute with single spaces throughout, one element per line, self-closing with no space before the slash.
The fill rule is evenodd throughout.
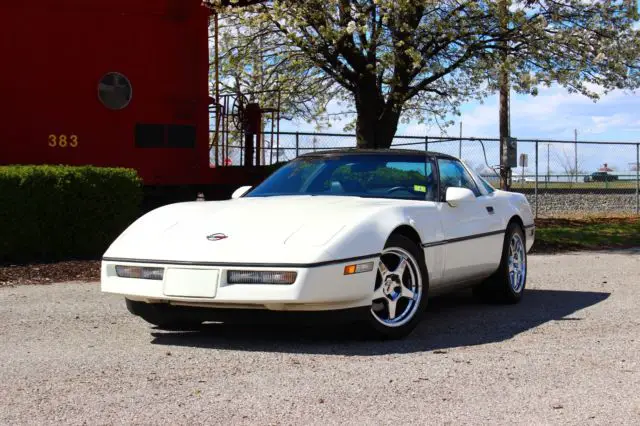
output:
<path id="1" fill-rule="evenodd" d="M 203 308 L 243 308 L 273 311 L 339 310 L 371 305 L 378 260 L 370 272 L 345 275 L 346 265 L 316 267 L 226 267 L 135 261 L 103 261 L 101 291 L 129 300 Z M 122 278 L 116 265 L 164 268 L 162 280 Z M 293 284 L 230 284 L 229 270 L 295 271 Z"/>

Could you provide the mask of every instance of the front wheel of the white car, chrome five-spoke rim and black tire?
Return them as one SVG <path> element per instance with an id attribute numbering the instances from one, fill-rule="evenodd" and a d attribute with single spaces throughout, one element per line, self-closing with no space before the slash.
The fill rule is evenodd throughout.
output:
<path id="1" fill-rule="evenodd" d="M 398 268 L 403 264 L 400 276 Z M 391 235 L 380 256 L 380 265 L 371 309 L 363 325 L 373 338 L 401 339 L 415 329 L 426 310 L 429 286 L 424 254 L 409 238 Z"/>

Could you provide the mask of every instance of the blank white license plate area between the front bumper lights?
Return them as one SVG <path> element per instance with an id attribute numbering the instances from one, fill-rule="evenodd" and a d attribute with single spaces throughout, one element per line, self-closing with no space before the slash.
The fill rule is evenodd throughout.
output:
<path id="1" fill-rule="evenodd" d="M 164 295 L 173 297 L 216 297 L 218 270 L 168 269 Z"/>

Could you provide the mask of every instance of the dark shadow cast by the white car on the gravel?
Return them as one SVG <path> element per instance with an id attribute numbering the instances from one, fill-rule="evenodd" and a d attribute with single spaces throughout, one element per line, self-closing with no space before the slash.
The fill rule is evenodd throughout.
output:
<path id="1" fill-rule="evenodd" d="M 367 340 L 349 325 L 205 324 L 196 332 L 152 331 L 152 343 L 219 350 L 326 355 L 386 355 L 443 351 L 508 340 L 551 321 L 580 321 L 578 311 L 610 293 L 527 290 L 518 305 L 482 304 L 469 292 L 430 300 L 428 312 L 403 340 Z M 575 315 L 574 315 L 575 314 Z"/>

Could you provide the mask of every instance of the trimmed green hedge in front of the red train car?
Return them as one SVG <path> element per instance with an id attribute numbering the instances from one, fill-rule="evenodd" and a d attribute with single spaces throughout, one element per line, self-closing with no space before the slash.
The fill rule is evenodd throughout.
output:
<path id="1" fill-rule="evenodd" d="M 140 213 L 129 169 L 0 167 L 0 262 L 99 258 Z"/>

